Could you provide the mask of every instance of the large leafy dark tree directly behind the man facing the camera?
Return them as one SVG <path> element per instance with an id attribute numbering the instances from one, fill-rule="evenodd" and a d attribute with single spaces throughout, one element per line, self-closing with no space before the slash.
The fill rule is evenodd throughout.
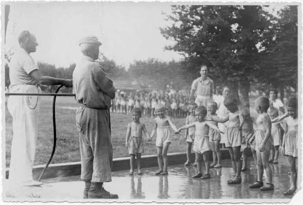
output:
<path id="1" fill-rule="evenodd" d="M 231 86 L 242 105 L 249 107 L 251 82 L 262 71 L 264 35 L 270 32 L 273 17 L 261 6 L 172 6 L 167 20 L 172 26 L 161 29 L 175 44 L 166 49 L 184 55 L 187 71 L 198 75 L 198 66 L 210 67 L 215 83 Z"/>

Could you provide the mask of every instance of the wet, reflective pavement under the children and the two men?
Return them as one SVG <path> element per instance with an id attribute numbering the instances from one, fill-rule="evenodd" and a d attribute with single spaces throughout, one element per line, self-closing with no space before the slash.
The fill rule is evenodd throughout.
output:
<path id="1" fill-rule="evenodd" d="M 292 197 L 283 195 L 285 189 L 290 186 L 289 166 L 285 157 L 279 158 L 279 164 L 270 164 L 274 173 L 275 190 L 273 191 L 261 191 L 258 188 L 250 189 L 248 187 L 248 184 L 254 182 L 257 177 L 257 169 L 251 158 L 248 162 L 249 170 L 241 173 L 241 184 L 227 184 L 232 172 L 230 160 L 223 160 L 222 165 L 223 167 L 219 169 L 211 168 L 211 178 L 206 180 L 192 179 L 192 176 L 196 173 L 196 168 L 192 166 L 184 167 L 183 165 L 169 166 L 169 175 L 167 176 L 155 176 L 154 173 L 158 170 L 158 167 L 143 169 L 143 175 L 137 175 L 137 170 L 135 170 L 133 176 L 129 176 L 128 171 L 117 171 L 113 172 L 113 181 L 105 183 L 105 189 L 117 193 L 121 201 L 217 199 L 216 201 L 232 200 L 235 202 L 237 201 L 235 199 L 243 201 L 243 199 L 257 198 L 254 201 L 287 202 Z M 80 176 L 46 179 L 43 180 L 43 185 L 40 187 L 19 189 L 12 188 L 8 181 L 5 181 L 3 188 L 6 190 L 5 201 L 87 201 L 87 199 L 82 199 L 84 182 L 80 181 Z"/>

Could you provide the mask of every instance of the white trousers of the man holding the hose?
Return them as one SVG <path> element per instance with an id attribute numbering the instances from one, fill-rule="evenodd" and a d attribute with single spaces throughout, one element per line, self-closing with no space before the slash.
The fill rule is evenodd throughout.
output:
<path id="1" fill-rule="evenodd" d="M 11 92 L 38 93 L 35 85 L 15 85 Z M 40 107 L 38 96 L 11 95 L 8 110 L 13 117 L 13 140 L 9 179 L 14 183 L 33 180 L 32 168 L 35 159 L 38 114 Z"/>

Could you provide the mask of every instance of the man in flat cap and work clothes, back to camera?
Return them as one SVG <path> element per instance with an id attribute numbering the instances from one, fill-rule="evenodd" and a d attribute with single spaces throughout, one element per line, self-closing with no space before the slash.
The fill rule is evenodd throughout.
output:
<path id="1" fill-rule="evenodd" d="M 100 43 L 95 36 L 79 41 L 83 57 L 73 73 L 73 90 L 81 106 L 76 112 L 80 141 L 83 198 L 118 198 L 103 187 L 112 181 L 113 147 L 110 130 L 110 105 L 115 87 L 102 66 L 95 62 Z"/>

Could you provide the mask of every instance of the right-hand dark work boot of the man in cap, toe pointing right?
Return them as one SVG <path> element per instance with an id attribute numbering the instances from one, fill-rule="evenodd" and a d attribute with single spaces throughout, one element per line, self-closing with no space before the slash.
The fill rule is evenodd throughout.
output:
<path id="1" fill-rule="evenodd" d="M 88 198 L 118 198 L 118 195 L 106 191 L 103 188 L 103 182 L 91 182 L 88 190 Z"/>

